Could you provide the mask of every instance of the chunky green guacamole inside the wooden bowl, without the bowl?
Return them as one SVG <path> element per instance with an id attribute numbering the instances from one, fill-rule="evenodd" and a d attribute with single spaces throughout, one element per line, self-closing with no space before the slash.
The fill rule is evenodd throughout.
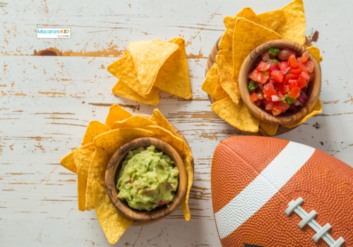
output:
<path id="1" fill-rule="evenodd" d="M 169 206 L 179 181 L 179 170 L 173 164 L 168 155 L 154 146 L 129 151 L 119 171 L 118 198 L 136 210 Z"/>

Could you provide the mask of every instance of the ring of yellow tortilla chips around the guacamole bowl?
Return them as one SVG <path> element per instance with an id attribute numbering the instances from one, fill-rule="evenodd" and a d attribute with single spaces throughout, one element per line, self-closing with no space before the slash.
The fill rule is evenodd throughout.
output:
<path id="1" fill-rule="evenodd" d="M 109 199 L 105 186 L 105 170 L 109 159 L 119 147 L 141 137 L 164 140 L 179 152 L 187 175 L 187 190 L 181 201 L 181 209 L 187 221 L 191 218 L 188 201 L 193 183 L 193 155 L 189 145 L 174 131 L 159 109 L 155 109 L 150 119 L 146 119 L 133 116 L 119 107 L 119 104 L 113 104 L 105 124 L 90 121 L 82 146 L 62 157 L 60 161 L 61 166 L 77 174 L 78 210 L 95 209 L 109 243 L 116 243 L 132 220 L 121 215 Z"/>

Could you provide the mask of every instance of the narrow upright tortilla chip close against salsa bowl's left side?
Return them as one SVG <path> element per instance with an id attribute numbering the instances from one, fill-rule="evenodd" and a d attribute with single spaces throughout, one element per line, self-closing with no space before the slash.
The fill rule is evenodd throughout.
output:
<path id="1" fill-rule="evenodd" d="M 220 85 L 227 92 L 235 104 L 239 104 L 240 100 L 240 90 L 238 81 L 234 81 L 232 77 L 233 68 L 227 61 L 225 61 L 224 56 L 216 56 L 216 61 L 218 64 L 218 73 L 220 75 Z M 217 99 L 218 100 L 218 99 Z"/>

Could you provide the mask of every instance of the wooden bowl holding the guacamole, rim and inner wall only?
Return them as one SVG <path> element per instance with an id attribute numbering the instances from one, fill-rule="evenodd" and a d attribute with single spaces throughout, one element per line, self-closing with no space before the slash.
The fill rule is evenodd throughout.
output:
<path id="1" fill-rule="evenodd" d="M 118 191 L 116 189 L 116 182 L 117 176 L 121 168 L 121 164 L 126 155 L 128 154 L 128 151 L 134 150 L 138 147 L 148 147 L 150 145 L 154 145 L 157 149 L 162 150 L 174 161 L 174 165 L 179 169 L 179 186 L 177 188 L 174 200 L 169 203 L 169 208 L 167 207 L 167 205 L 163 205 L 161 207 L 157 207 L 155 210 L 151 210 L 150 212 L 148 212 L 145 210 L 135 210 L 132 207 L 129 207 L 126 201 L 120 200 L 117 197 Z M 105 184 L 107 186 L 109 198 L 110 200 L 112 200 L 112 203 L 114 204 L 117 210 L 119 210 L 126 217 L 133 219 L 134 221 L 150 222 L 158 219 L 163 219 L 164 217 L 171 215 L 172 212 L 177 210 L 181 203 L 181 200 L 184 198 L 184 195 L 186 193 L 186 170 L 184 167 L 183 160 L 181 159 L 178 152 L 174 149 L 174 147 L 164 142 L 163 140 L 157 138 L 138 138 L 132 140 L 129 143 L 126 143 L 114 153 L 112 158 L 109 160 L 107 171 L 105 172 Z"/>

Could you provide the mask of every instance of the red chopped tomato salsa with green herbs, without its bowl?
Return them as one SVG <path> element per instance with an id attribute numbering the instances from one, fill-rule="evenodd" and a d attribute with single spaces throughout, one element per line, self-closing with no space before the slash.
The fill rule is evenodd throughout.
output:
<path id="1" fill-rule="evenodd" d="M 274 116 L 287 110 L 298 112 L 308 101 L 306 93 L 315 78 L 313 61 L 308 59 L 308 51 L 301 56 L 288 48 L 263 52 L 248 75 L 251 102 Z"/>

